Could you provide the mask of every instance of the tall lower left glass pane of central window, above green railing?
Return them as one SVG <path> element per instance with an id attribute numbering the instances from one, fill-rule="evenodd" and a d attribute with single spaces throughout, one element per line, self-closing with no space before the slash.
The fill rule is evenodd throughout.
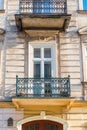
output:
<path id="1" fill-rule="evenodd" d="M 34 78 L 40 78 L 40 62 L 34 62 Z"/>

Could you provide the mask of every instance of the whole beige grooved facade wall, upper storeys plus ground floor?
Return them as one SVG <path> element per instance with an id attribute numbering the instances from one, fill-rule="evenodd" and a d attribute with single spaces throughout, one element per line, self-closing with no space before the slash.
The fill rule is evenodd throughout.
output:
<path id="1" fill-rule="evenodd" d="M 77 14 L 77 1 L 68 1 L 68 13 L 72 14 L 69 28 L 66 32 L 58 35 L 58 44 L 60 53 L 60 76 L 71 77 L 71 96 L 82 97 L 82 66 L 81 66 L 81 50 L 80 36 L 77 33 L 78 28 L 86 26 L 86 16 Z M 24 77 L 27 75 L 27 43 L 29 39 L 24 33 L 17 32 L 14 14 L 18 12 L 18 1 L 7 1 L 6 14 L 0 13 L 0 28 L 6 30 L 4 39 L 0 40 L 1 50 L 1 92 L 5 92 L 5 96 L 15 94 L 15 78 L 16 75 Z M 82 21 L 83 20 L 83 21 Z M 82 22 L 81 22 L 82 21 Z M 86 36 L 85 36 L 86 37 Z M 0 36 L 2 39 L 3 36 Z M 27 41 L 28 40 L 28 41 Z M 31 38 L 32 40 L 32 38 Z M 3 48 L 3 49 L 2 49 Z M 4 91 L 6 90 L 6 91 Z M 19 116 L 20 115 L 20 116 Z M 13 117 L 14 127 L 7 127 L 8 117 Z M 36 116 L 36 115 L 35 115 Z M 87 129 L 87 110 L 86 108 L 74 108 L 66 113 L 57 113 L 52 116 L 62 118 L 68 123 L 67 130 L 86 130 Z M 30 115 L 26 115 L 30 117 Z M 23 112 L 15 109 L 0 109 L 0 130 L 17 130 L 17 122 L 23 119 Z"/>

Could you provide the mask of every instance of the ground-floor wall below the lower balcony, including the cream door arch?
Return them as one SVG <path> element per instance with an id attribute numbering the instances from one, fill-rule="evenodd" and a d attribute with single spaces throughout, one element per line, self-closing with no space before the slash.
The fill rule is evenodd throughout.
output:
<path id="1" fill-rule="evenodd" d="M 45 114 L 44 114 L 45 113 Z M 13 127 L 7 126 L 8 118 L 13 119 Z M 27 116 L 24 118 L 23 110 L 17 111 L 14 108 L 0 108 L 0 130 L 20 130 L 20 126 L 29 121 L 48 119 L 61 122 L 64 130 L 86 130 L 87 129 L 87 108 L 72 108 L 67 113 L 59 113 L 48 115 L 46 111 L 42 111 L 39 115 Z"/>

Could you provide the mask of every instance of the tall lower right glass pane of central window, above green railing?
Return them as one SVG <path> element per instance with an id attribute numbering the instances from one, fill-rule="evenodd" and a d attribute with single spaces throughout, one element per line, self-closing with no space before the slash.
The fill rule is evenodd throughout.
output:
<path id="1" fill-rule="evenodd" d="M 51 77 L 51 62 L 44 62 L 44 78 Z"/>

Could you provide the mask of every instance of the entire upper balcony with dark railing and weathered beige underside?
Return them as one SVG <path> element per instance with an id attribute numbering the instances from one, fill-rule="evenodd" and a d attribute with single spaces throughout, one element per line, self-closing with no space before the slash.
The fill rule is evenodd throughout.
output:
<path id="1" fill-rule="evenodd" d="M 67 14 L 67 0 L 20 0 L 19 13 L 15 14 L 18 30 L 30 36 L 50 36 L 65 31 L 70 17 Z"/>

